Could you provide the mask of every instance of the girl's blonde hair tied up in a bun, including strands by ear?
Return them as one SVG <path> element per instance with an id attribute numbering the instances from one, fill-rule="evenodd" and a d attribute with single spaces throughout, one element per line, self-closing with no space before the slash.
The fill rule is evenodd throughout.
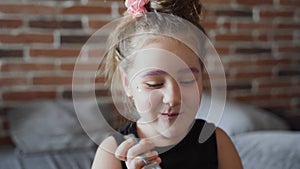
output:
<path id="1" fill-rule="evenodd" d="M 104 65 L 99 68 L 99 72 L 106 78 L 108 86 L 111 86 L 112 81 L 115 87 L 120 85 L 117 86 L 117 89 L 121 89 L 118 90 L 118 96 L 123 103 L 128 104 L 122 107 L 122 109 L 127 109 L 125 112 L 132 111 L 134 105 L 122 90 L 120 72 L 117 68 L 120 66 L 124 71 L 127 70 L 131 62 L 127 56 L 148 42 L 157 40 L 158 37 L 161 40 L 161 32 L 182 33 L 183 25 L 185 26 L 187 21 L 196 26 L 198 31 L 200 29 L 204 33 L 204 29 L 200 25 L 202 5 L 199 0 L 150 0 L 145 7 L 148 13 L 139 18 L 134 18 L 127 12 L 124 13 L 121 22 L 108 38 L 109 50 L 103 58 Z M 162 14 L 170 14 L 175 17 L 163 17 Z M 111 92 L 116 91 L 111 89 Z"/>

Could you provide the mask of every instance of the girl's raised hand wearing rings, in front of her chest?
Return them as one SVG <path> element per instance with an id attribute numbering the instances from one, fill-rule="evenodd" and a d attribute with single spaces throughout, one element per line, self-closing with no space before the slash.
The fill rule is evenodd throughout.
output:
<path id="1" fill-rule="evenodd" d="M 135 143 L 134 139 L 125 140 L 119 145 L 115 152 L 116 158 L 125 161 L 128 169 L 142 169 L 149 163 L 161 163 L 161 159 L 156 151 L 152 151 L 154 144 L 146 139 L 142 139 L 139 143 Z M 143 160 L 142 156 L 146 158 Z"/>

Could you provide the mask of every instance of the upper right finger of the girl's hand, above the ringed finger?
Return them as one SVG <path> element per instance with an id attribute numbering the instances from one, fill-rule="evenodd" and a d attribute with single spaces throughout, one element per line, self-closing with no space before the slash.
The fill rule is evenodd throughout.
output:
<path id="1" fill-rule="evenodd" d="M 142 139 L 138 144 L 132 146 L 127 152 L 127 158 L 135 158 L 140 154 L 150 152 L 154 148 L 154 144 L 150 140 Z"/>

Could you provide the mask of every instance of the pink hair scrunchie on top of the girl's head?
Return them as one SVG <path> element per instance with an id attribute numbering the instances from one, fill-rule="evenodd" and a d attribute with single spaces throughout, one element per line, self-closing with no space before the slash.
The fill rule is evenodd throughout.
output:
<path id="1" fill-rule="evenodd" d="M 127 12 L 134 18 L 141 17 L 143 14 L 147 13 L 145 5 L 149 0 L 126 0 L 125 6 L 127 7 Z"/>

